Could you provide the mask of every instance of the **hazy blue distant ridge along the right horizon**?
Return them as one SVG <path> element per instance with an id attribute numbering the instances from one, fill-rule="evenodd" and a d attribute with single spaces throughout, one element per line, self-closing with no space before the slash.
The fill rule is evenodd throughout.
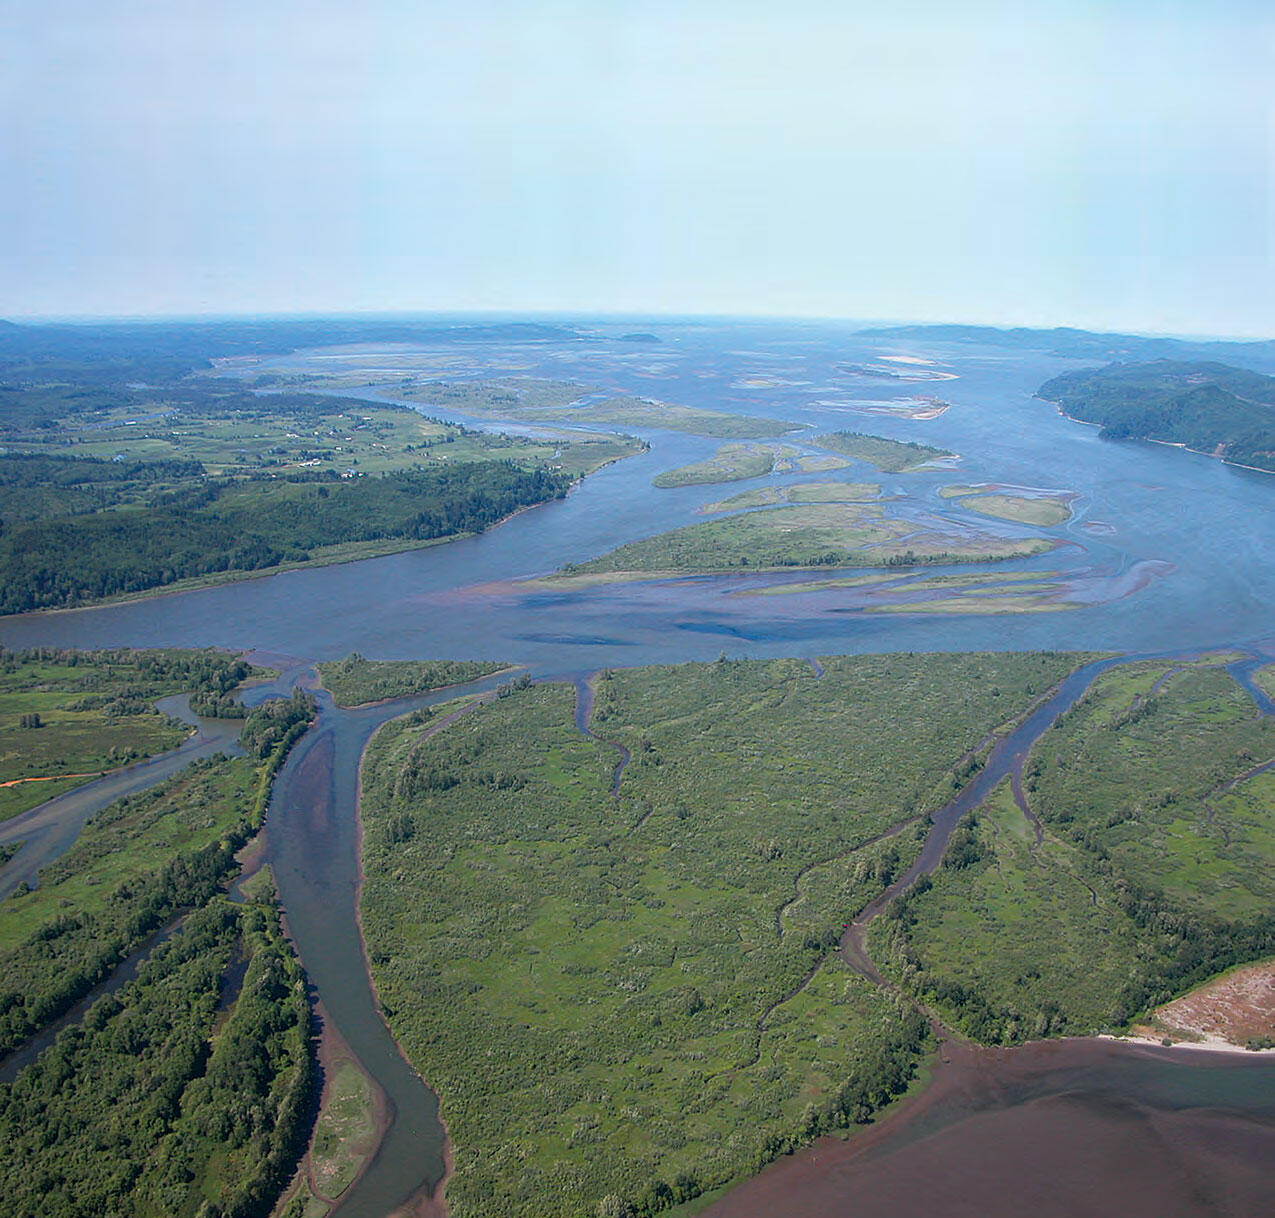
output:
<path id="1" fill-rule="evenodd" d="M 993 325 L 892 325 L 859 330 L 872 338 L 919 338 L 928 342 L 978 343 L 1015 351 L 1044 351 L 1072 360 L 1230 360 L 1275 371 L 1275 342 L 1223 342 L 1149 338 L 1145 334 L 1102 334 L 1057 327 L 1034 330 Z"/>

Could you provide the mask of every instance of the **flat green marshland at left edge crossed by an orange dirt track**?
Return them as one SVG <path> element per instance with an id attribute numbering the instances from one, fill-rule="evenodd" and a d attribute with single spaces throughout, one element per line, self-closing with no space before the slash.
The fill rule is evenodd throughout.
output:
<path id="1" fill-rule="evenodd" d="M 190 693 L 207 713 L 200 699 L 223 698 L 252 671 L 213 650 L 0 648 L 0 819 L 175 749 L 190 730 L 156 699 Z M 78 777 L 43 781 L 60 774 Z"/>

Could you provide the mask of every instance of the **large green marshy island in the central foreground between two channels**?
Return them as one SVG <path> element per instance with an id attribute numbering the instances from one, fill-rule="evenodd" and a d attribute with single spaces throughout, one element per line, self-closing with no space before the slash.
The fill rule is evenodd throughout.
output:
<path id="1" fill-rule="evenodd" d="M 924 1022 L 833 946 L 968 755 L 1076 662 L 603 673 L 592 728 L 616 745 L 575 728 L 566 686 L 432 738 L 382 728 L 363 928 L 394 1033 L 441 1096 L 451 1212 L 664 1208 L 905 1087 Z"/>

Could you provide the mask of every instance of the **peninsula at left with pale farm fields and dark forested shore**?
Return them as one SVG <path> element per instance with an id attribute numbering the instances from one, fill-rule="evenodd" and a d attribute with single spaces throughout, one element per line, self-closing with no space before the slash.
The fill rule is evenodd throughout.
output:
<path id="1" fill-rule="evenodd" d="M 0 390 L 0 612 L 371 557 L 481 532 L 644 449 L 490 436 L 222 383 Z"/>

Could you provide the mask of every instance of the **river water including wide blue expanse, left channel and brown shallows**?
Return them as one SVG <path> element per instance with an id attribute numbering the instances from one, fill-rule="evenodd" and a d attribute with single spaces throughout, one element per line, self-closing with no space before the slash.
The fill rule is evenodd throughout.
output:
<path id="1" fill-rule="evenodd" d="M 618 341 L 638 328 L 658 342 Z M 711 659 L 722 650 L 747 657 L 1037 648 L 1275 652 L 1269 616 L 1275 477 L 1163 445 L 1105 443 L 1095 429 L 1062 418 L 1033 394 L 1049 376 L 1080 366 L 1076 361 L 969 344 L 887 343 L 858 337 L 848 325 L 643 320 L 640 327 L 597 324 L 589 337 L 562 342 L 298 353 L 269 361 L 269 370 L 312 371 L 332 367 L 335 358 L 357 371 L 368 360 L 384 366 L 388 353 L 407 370 L 445 363 L 449 379 L 511 372 L 570 379 L 817 429 L 806 436 L 871 431 L 951 449 L 960 454 L 955 469 L 880 474 L 854 466 L 833 477 L 880 482 L 885 494 L 907 496 L 933 514 L 951 510 L 938 490 L 954 481 L 1075 495 L 1072 519 L 1052 531 L 1060 548 L 998 568 L 1056 573 L 1049 578 L 1079 589 L 1075 605 L 1037 613 L 881 613 L 852 591 L 741 596 L 756 585 L 755 575 L 572 591 L 519 584 L 621 542 L 694 523 L 700 506 L 737 490 L 811 480 L 771 474 L 727 490 L 657 490 L 655 473 L 703 459 L 720 441 L 641 431 L 648 453 L 479 537 L 149 601 L 3 619 L 0 643 L 255 650 L 277 657 L 283 670 L 272 689 L 306 680 L 314 662 L 353 650 L 381 659 L 510 661 L 536 679 L 561 680 L 607 666 Z M 955 379 L 864 380 L 839 367 L 890 356 L 933 361 L 898 367 L 941 369 Z M 950 408 L 924 421 L 890 412 L 914 395 L 941 397 Z M 801 435 L 787 439 L 799 444 Z M 1048 718 L 1084 686 L 1084 680 L 1070 682 Z M 269 861 L 323 1010 L 384 1092 L 391 1115 L 375 1162 L 338 1207 L 342 1218 L 384 1218 L 442 1171 L 437 1106 L 377 1011 L 357 922 L 358 760 L 381 723 L 428 700 L 340 710 L 323 695 L 319 723 L 280 772 L 268 818 Z M 993 768 L 1011 772 L 1029 742 L 1024 737 L 1003 749 Z M 212 742 L 185 747 L 195 756 Z M 38 816 L 31 814 L 23 877 L 65 849 L 91 805 L 115 797 L 105 788 L 82 792 L 73 793 L 79 800 L 64 797 L 69 802 L 61 810 L 50 801 Z M 1204 1053 L 1096 1041 L 1012 1051 L 947 1045 L 945 1057 L 932 1085 L 878 1127 L 775 1164 L 717 1203 L 714 1213 L 905 1218 L 1272 1210 L 1270 1059 L 1225 1055 L 1205 1062 Z M 900 1180 L 912 1181 L 910 1191 L 898 1186 Z M 1247 1208 L 1256 1198 L 1265 1198 L 1265 1209 Z"/>

